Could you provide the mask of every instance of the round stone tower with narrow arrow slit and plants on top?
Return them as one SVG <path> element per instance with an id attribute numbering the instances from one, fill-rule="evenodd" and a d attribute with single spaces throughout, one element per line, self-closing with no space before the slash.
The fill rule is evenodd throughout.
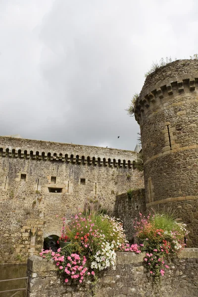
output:
<path id="1" fill-rule="evenodd" d="M 198 247 L 198 59 L 177 60 L 147 76 L 135 103 L 147 207 L 170 207 Z"/>

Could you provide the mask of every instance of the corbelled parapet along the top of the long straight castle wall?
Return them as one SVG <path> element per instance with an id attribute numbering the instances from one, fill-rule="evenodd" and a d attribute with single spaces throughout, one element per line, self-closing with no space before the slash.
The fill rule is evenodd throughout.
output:
<path id="1" fill-rule="evenodd" d="M 0 156 L 131 168 L 137 152 L 0 137 Z"/>

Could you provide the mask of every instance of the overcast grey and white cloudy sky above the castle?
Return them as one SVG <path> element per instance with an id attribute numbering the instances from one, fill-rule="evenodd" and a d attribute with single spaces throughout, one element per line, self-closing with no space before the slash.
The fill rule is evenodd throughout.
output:
<path id="1" fill-rule="evenodd" d="M 195 53 L 196 0 L 0 0 L 0 135 L 133 150 L 152 61 Z"/>

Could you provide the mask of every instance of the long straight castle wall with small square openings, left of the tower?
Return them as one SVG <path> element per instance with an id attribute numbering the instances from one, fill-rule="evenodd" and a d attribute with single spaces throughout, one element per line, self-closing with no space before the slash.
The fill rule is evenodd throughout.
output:
<path id="1" fill-rule="evenodd" d="M 116 195 L 144 184 L 136 159 L 134 151 L 0 137 L 1 261 L 38 254 L 85 198 L 113 210 Z"/>

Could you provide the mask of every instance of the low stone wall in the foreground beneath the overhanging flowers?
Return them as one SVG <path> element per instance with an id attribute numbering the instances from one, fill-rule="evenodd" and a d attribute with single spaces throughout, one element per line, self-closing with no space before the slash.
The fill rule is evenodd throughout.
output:
<path id="1" fill-rule="evenodd" d="M 170 259 L 170 269 L 158 288 L 143 266 L 144 254 L 118 252 L 116 265 L 99 275 L 92 285 L 66 285 L 52 260 L 28 259 L 28 297 L 197 297 L 198 248 L 186 248 Z M 95 295 L 94 293 L 95 292 Z"/>

